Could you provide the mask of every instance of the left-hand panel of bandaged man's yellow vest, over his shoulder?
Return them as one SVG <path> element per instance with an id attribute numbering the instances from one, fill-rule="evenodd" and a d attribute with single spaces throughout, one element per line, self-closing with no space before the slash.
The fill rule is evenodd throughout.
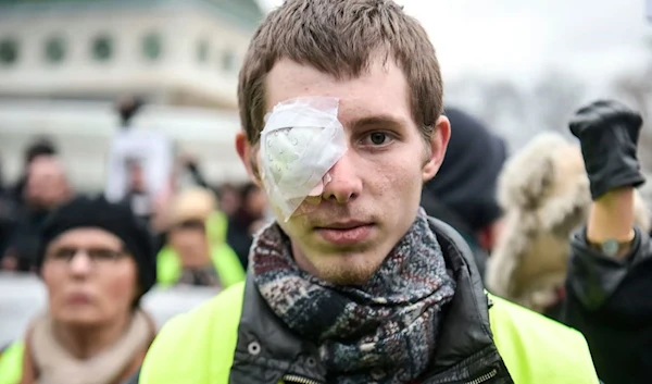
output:
<path id="1" fill-rule="evenodd" d="M 168 383 L 190 376 L 195 379 L 187 382 L 208 383 L 227 371 L 238 338 L 243 295 L 242 282 L 170 320 L 147 354 L 139 383 Z"/>

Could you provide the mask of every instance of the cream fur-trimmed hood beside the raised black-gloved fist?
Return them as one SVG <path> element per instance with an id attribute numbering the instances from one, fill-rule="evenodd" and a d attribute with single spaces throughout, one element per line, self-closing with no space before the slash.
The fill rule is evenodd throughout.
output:
<path id="1" fill-rule="evenodd" d="M 569 237 L 587 221 L 589 179 L 578 146 L 546 133 L 507 160 L 498 182 L 504 227 L 489 258 L 487 288 L 536 311 L 554 305 L 566 278 Z M 636 194 L 636 223 L 650 214 Z"/>

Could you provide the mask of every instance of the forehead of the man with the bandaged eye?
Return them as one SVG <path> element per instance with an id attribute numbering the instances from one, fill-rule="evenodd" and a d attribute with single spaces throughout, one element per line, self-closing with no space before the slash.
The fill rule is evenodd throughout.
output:
<path id="1" fill-rule="evenodd" d="M 379 115 L 412 121 L 408 83 L 393 60 L 373 60 L 361 76 L 338 79 L 315 67 L 281 59 L 267 75 L 265 88 L 267 112 L 288 99 L 327 96 L 340 100 L 338 117 L 344 126 Z"/>

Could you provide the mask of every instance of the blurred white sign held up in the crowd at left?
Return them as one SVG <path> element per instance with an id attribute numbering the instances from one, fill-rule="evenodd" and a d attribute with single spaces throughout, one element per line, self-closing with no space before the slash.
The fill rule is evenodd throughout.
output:
<path id="1" fill-rule="evenodd" d="M 120 201 L 135 189 L 154 198 L 170 186 L 174 164 L 166 136 L 134 128 L 118 133 L 109 151 L 106 199 Z"/>

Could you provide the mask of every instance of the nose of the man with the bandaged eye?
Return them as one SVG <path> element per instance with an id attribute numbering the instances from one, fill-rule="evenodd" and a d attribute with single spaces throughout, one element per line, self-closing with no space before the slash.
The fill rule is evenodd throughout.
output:
<path id="1" fill-rule="evenodd" d="M 347 151 L 328 171 L 330 182 L 324 187 L 322 197 L 337 203 L 347 203 L 362 193 L 360 170 L 355 166 L 354 153 Z"/>

